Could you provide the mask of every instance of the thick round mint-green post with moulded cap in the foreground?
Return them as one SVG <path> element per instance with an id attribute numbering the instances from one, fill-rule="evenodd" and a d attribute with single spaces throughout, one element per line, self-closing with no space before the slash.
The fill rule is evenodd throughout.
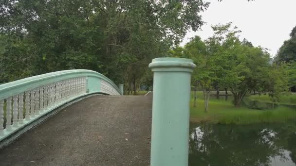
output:
<path id="1" fill-rule="evenodd" d="M 153 75 L 151 166 L 188 166 L 190 78 L 184 58 L 156 58 Z"/>

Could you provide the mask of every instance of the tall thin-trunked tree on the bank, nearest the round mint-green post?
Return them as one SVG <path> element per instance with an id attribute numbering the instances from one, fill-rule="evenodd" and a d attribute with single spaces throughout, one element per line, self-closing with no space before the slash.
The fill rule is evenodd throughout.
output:
<path id="1" fill-rule="evenodd" d="M 224 86 L 223 72 L 225 67 L 225 57 L 222 52 L 238 41 L 235 37 L 240 31 L 230 30 L 231 23 L 226 25 L 212 26 L 213 36 L 204 42 L 196 36 L 185 45 L 189 57 L 194 59 L 197 67 L 193 73 L 195 89 L 197 82 L 203 89 L 204 111 L 208 111 L 210 92 L 213 88 L 219 92 L 219 86 Z M 219 95 L 219 93 L 217 93 Z M 196 98 L 195 98 L 196 99 Z M 194 104 L 195 105 L 195 104 Z"/>

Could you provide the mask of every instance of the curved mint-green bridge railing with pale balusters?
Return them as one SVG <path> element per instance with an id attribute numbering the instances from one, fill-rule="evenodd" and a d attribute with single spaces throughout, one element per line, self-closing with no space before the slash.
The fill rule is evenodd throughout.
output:
<path id="1" fill-rule="evenodd" d="M 107 77 L 92 70 L 64 70 L 0 85 L 0 142 L 72 100 L 102 93 L 122 95 Z"/>

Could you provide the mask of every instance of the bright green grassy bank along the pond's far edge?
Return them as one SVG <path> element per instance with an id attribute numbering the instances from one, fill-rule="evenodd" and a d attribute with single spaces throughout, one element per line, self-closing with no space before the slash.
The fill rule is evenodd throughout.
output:
<path id="1" fill-rule="evenodd" d="M 296 110 L 280 106 L 274 110 L 254 110 L 245 107 L 236 108 L 232 99 L 217 100 L 210 99 L 209 111 L 204 113 L 204 101 L 202 92 L 198 92 L 197 107 L 193 107 L 193 93 L 190 102 L 190 121 L 209 122 L 220 124 L 258 124 L 258 123 L 284 123 L 296 119 Z M 268 97 L 268 96 L 267 96 Z"/>

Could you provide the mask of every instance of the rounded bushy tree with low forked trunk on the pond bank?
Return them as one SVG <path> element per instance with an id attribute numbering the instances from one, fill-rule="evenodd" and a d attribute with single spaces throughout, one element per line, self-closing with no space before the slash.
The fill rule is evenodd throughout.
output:
<path id="1" fill-rule="evenodd" d="M 224 78 L 233 94 L 234 105 L 239 107 L 248 92 L 266 87 L 269 54 L 262 48 L 240 43 L 225 53 L 229 55 L 230 63 Z"/>

